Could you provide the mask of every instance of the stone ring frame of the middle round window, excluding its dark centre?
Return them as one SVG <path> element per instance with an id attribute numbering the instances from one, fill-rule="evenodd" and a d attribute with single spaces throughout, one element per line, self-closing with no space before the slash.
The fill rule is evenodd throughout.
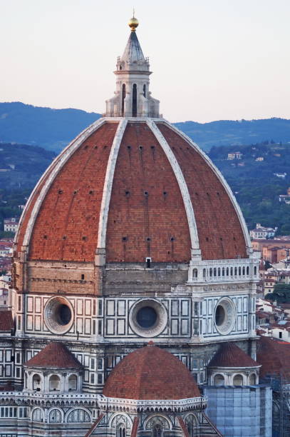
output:
<path id="1" fill-rule="evenodd" d="M 144 308 L 145 306 L 150 306 L 150 308 L 153 308 L 157 314 L 156 321 L 153 326 L 150 326 L 150 328 L 143 328 L 139 325 L 137 321 L 137 314 L 138 311 L 141 308 Z M 140 301 L 137 301 L 133 304 L 133 306 L 130 308 L 129 313 L 129 324 L 130 328 L 140 337 L 144 338 L 152 338 L 157 337 L 162 333 L 166 326 L 168 321 L 168 315 L 167 310 L 162 303 L 159 301 L 156 301 L 152 298 L 145 298 L 141 299 Z"/>

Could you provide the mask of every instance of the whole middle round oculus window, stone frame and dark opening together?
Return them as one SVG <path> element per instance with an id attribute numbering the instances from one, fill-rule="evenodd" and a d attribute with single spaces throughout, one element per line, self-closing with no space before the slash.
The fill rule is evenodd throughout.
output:
<path id="1" fill-rule="evenodd" d="M 155 337 L 162 333 L 167 325 L 167 311 L 155 299 L 143 299 L 131 308 L 129 323 L 138 336 Z"/>

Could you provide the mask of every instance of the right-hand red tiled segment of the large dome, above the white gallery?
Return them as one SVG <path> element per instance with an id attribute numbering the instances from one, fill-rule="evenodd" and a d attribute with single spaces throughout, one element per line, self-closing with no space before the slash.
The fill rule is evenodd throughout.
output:
<path id="1" fill-rule="evenodd" d="M 202 259 L 247 258 L 246 244 L 232 200 L 200 152 L 170 126 L 157 123 L 185 176 L 197 223 Z"/>

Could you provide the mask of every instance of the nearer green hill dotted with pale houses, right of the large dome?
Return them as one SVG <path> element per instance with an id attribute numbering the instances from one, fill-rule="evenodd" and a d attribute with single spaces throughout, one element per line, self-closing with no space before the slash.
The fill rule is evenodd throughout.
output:
<path id="1" fill-rule="evenodd" d="M 240 159 L 228 159 L 239 151 Z M 209 157 L 214 161 L 242 208 L 249 228 L 256 223 L 278 226 L 280 234 L 290 233 L 290 205 L 279 201 L 290 186 L 290 144 L 213 147 Z M 278 175 L 278 176 L 277 176 Z"/>

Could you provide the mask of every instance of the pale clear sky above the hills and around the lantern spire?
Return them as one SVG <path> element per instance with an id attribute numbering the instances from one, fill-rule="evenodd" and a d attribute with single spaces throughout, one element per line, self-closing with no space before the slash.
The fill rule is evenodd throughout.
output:
<path id="1" fill-rule="evenodd" d="M 0 101 L 105 111 L 133 6 L 166 119 L 290 119 L 290 0 L 0 0 Z"/>

